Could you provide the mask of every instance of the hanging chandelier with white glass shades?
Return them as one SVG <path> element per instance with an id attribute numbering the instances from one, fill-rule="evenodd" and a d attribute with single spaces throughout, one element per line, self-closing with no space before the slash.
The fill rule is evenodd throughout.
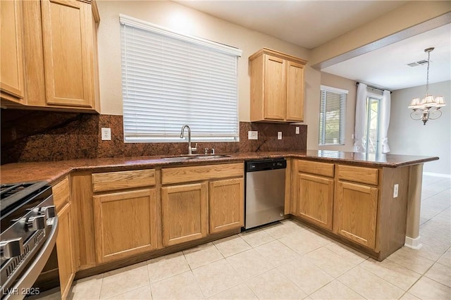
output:
<path id="1" fill-rule="evenodd" d="M 423 99 L 414 98 L 410 102 L 409 108 L 414 111 L 410 113 L 410 118 L 414 120 L 422 120 L 423 125 L 426 125 L 428 120 L 435 120 L 440 118 L 442 112 L 440 107 L 445 106 L 443 96 L 434 96 L 429 94 L 429 58 L 431 58 L 431 51 L 433 47 L 424 49 L 424 52 L 428 54 L 428 71 L 426 76 L 426 96 Z"/>

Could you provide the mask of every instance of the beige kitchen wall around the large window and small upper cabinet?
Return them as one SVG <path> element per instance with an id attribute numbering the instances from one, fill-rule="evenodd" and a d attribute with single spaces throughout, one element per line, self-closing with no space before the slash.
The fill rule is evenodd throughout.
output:
<path id="1" fill-rule="evenodd" d="M 97 1 L 100 13 L 98 31 L 101 113 L 122 115 L 121 35 L 119 14 L 130 15 L 171 30 L 195 35 L 242 50 L 238 60 L 239 120 L 249 121 L 249 56 L 263 47 L 276 49 L 308 61 L 310 51 L 269 35 L 214 18 L 172 1 Z M 319 99 L 319 71 L 305 69 L 306 106 Z M 317 123 L 314 117 L 306 118 Z M 306 122 L 305 124 L 309 124 Z"/>

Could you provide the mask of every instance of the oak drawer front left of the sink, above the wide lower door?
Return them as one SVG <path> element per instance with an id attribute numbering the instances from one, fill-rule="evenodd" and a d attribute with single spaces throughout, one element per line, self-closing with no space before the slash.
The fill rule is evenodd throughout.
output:
<path id="1" fill-rule="evenodd" d="M 94 192 L 148 187 L 149 185 L 155 185 L 154 169 L 92 174 L 92 190 Z"/>

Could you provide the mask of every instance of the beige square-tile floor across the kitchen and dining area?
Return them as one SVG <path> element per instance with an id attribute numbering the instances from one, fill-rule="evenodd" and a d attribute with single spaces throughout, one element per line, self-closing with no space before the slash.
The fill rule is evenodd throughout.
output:
<path id="1" fill-rule="evenodd" d="M 424 176 L 423 248 L 383 262 L 293 220 L 88 277 L 69 299 L 451 299 L 451 180 Z M 59 299 L 55 290 L 41 299 Z"/>

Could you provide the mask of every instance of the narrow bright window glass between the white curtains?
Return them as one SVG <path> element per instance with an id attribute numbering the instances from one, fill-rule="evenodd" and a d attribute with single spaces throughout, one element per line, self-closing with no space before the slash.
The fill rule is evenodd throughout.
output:
<path id="1" fill-rule="evenodd" d="M 366 153 L 377 153 L 380 146 L 379 123 L 381 99 L 369 96 L 366 98 L 366 124 L 364 132 L 364 149 Z"/>

